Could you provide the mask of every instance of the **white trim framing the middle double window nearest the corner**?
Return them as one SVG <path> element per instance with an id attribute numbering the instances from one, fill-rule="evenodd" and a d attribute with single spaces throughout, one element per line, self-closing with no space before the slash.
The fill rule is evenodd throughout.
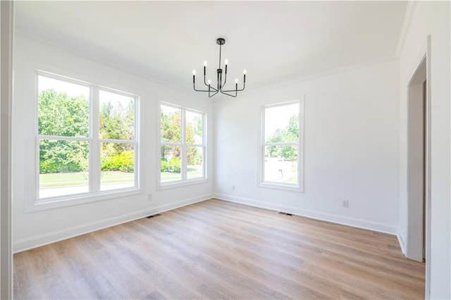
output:
<path id="1" fill-rule="evenodd" d="M 164 143 L 167 145 L 180 145 L 181 146 L 181 151 L 182 151 L 182 157 L 185 158 L 186 157 L 186 148 L 188 146 L 202 146 L 202 149 L 204 151 L 204 153 L 202 154 L 202 159 L 203 159 L 203 165 L 202 168 L 204 169 L 204 177 L 202 178 L 193 178 L 193 179 L 187 179 L 186 178 L 186 172 L 185 172 L 185 168 L 186 168 L 186 160 L 183 159 L 182 160 L 182 164 L 180 165 L 180 173 L 181 173 L 181 180 L 175 180 L 175 181 L 171 181 L 171 182 L 161 182 L 161 106 L 169 106 L 169 107 L 173 107 L 173 108 L 178 108 L 182 110 L 182 132 L 181 132 L 181 138 L 182 138 L 182 142 L 180 143 Z M 187 106 L 180 106 L 178 104 L 173 104 L 171 102 L 166 102 L 166 101 L 159 101 L 158 102 L 158 109 L 156 110 L 158 113 L 158 124 L 156 126 L 156 130 L 157 130 L 157 135 L 156 135 L 156 139 L 157 139 L 157 149 L 156 149 L 156 190 L 157 191 L 161 191 L 161 190 L 165 190 L 165 189 L 174 189 L 177 187 L 186 187 L 186 186 L 190 186 L 190 185 L 199 185 L 202 183 L 206 183 L 209 182 L 209 178 L 208 178 L 208 174 L 207 174 L 207 149 L 208 149 L 208 145 L 207 145 L 207 139 L 206 139 L 206 112 L 205 111 L 201 111 L 199 109 L 194 109 L 194 108 L 189 108 Z M 193 113 L 201 113 L 203 116 L 202 119 L 202 141 L 203 144 L 187 144 L 185 143 L 185 112 L 186 111 L 191 111 Z"/>

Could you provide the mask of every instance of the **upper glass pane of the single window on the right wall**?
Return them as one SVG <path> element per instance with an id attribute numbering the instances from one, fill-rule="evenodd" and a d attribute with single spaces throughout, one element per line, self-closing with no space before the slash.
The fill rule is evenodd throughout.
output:
<path id="1" fill-rule="evenodd" d="M 299 140 L 299 104 L 265 108 L 265 142 Z"/>

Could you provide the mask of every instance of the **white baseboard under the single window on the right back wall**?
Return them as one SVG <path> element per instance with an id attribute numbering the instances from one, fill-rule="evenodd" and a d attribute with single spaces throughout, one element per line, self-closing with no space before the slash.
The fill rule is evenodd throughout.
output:
<path id="1" fill-rule="evenodd" d="M 256 206 L 259 208 L 271 209 L 272 211 L 283 211 L 285 213 L 292 213 L 301 215 L 303 217 L 312 218 L 316 220 L 323 220 L 352 227 L 358 227 L 377 232 L 384 232 L 390 235 L 398 234 L 398 227 L 393 224 L 375 222 L 371 220 L 364 220 L 359 218 L 350 218 L 343 215 L 334 215 L 331 213 L 321 213 L 319 211 L 311 211 L 307 209 L 297 208 L 293 206 L 284 206 L 268 202 L 259 201 L 256 199 L 242 198 L 237 196 L 230 196 L 226 194 L 214 194 L 216 199 L 231 201 L 239 204 L 246 204 L 249 206 Z"/>

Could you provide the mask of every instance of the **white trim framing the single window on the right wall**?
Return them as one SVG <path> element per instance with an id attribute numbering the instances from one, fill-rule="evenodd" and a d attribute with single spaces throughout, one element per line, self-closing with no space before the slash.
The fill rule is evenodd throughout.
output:
<path id="1" fill-rule="evenodd" d="M 291 192 L 304 192 L 304 95 L 300 97 L 299 100 L 293 100 L 293 101 L 285 101 L 285 102 L 278 102 L 276 104 L 268 104 L 268 105 L 262 105 L 260 107 L 260 135 L 259 135 L 259 163 L 258 163 L 258 187 L 264 187 L 269 189 L 282 189 L 285 191 L 291 191 Z M 290 104 L 299 104 L 299 144 L 298 143 L 292 143 L 294 145 L 297 145 L 297 185 L 290 185 L 290 184 L 283 184 L 278 182 L 267 182 L 264 181 L 264 146 L 265 144 L 265 137 L 264 137 L 264 125 L 265 125 L 265 109 L 271 108 L 271 107 L 277 107 L 277 106 L 284 106 L 284 105 L 290 105 Z M 290 144 L 290 143 L 284 143 L 284 144 Z"/>

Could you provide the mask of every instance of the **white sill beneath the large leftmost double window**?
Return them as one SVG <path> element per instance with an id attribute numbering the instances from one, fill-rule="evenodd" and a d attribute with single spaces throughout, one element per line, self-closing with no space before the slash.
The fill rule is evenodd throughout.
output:
<path id="1" fill-rule="evenodd" d="M 80 204 L 93 203 L 98 201 L 106 201 L 111 199 L 123 198 L 144 194 L 142 189 L 116 189 L 113 191 L 97 192 L 95 194 L 77 194 L 70 196 L 61 196 L 49 199 L 36 200 L 33 204 L 25 207 L 25 213 L 34 213 L 37 211 L 47 211 L 54 208 L 63 208 L 68 206 L 76 206 Z"/>

